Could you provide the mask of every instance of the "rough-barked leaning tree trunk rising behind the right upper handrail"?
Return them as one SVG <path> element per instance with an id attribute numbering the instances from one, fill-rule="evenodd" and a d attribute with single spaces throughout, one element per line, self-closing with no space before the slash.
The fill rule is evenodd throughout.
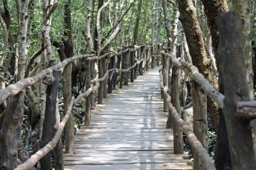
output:
<path id="1" fill-rule="evenodd" d="M 199 69 L 199 72 L 202 73 L 208 81 L 210 81 L 215 89 L 217 89 L 218 83 L 216 79 L 216 71 L 213 69 L 214 67 L 212 67 L 210 54 L 207 51 L 207 48 L 205 48 L 203 32 L 201 31 L 199 20 L 197 18 L 197 11 L 193 5 L 193 1 L 178 0 L 178 4 L 179 11 L 181 13 L 180 20 L 183 25 L 193 65 L 195 65 Z M 214 126 L 218 128 L 218 114 L 214 109 L 214 103 L 209 99 L 207 105 L 210 110 L 212 120 L 214 121 Z"/>

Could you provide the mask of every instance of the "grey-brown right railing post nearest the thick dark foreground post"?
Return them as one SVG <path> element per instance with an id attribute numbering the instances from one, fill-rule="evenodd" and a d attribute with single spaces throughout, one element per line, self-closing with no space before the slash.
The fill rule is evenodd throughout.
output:
<path id="1" fill-rule="evenodd" d="M 205 150 L 208 149 L 207 137 L 207 95 L 201 89 L 201 86 L 192 81 L 192 104 L 193 104 L 193 132 L 201 142 Z M 199 159 L 199 155 L 193 152 L 194 169 L 203 170 L 205 166 Z"/>

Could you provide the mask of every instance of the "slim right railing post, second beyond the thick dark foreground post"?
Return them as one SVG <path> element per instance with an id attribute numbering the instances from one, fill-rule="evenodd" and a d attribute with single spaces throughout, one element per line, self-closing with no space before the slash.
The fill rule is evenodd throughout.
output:
<path id="1" fill-rule="evenodd" d="M 179 81 L 180 81 L 180 70 L 179 68 L 172 66 L 172 80 L 170 83 L 170 97 L 174 108 L 176 108 L 179 116 L 181 116 L 181 106 L 179 99 Z M 169 112 L 168 119 L 171 118 L 171 124 L 173 129 L 174 138 L 174 154 L 183 153 L 183 131 L 181 126 Z"/>

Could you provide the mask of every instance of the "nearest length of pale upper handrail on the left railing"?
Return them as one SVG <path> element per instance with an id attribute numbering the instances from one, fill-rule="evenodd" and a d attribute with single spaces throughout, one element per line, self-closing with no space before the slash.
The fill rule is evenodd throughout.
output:
<path id="1" fill-rule="evenodd" d="M 22 91 L 26 87 L 29 87 L 31 85 L 38 83 L 38 81 L 44 79 L 44 77 L 46 77 L 46 75 L 50 75 L 51 73 L 53 73 L 53 70 L 64 69 L 67 66 L 67 64 L 69 64 L 70 62 L 73 62 L 74 60 L 87 58 L 87 57 L 91 57 L 91 56 L 94 56 L 94 54 L 84 54 L 84 55 L 73 56 L 71 58 L 67 58 L 67 59 L 63 60 L 63 62 L 59 62 L 59 64 L 57 64 L 53 67 L 44 69 L 43 71 L 41 71 L 40 73 L 38 73 L 37 75 L 35 75 L 33 77 L 27 77 L 26 79 L 22 79 L 22 80 L 18 81 L 17 83 L 9 85 L 8 87 L 6 87 L 5 89 L 2 89 L 0 91 L 0 104 L 3 103 L 3 101 L 5 101 L 8 97 L 11 97 L 12 95 L 16 95 L 16 94 L 20 93 L 20 91 Z"/>

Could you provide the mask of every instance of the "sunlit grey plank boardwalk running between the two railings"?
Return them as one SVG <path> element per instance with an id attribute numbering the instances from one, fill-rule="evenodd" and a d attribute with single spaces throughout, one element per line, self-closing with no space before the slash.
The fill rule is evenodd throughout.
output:
<path id="1" fill-rule="evenodd" d="M 65 169 L 193 169 L 187 155 L 173 154 L 158 69 L 96 105 L 91 125 L 75 134 L 75 155 L 64 155 Z"/>

